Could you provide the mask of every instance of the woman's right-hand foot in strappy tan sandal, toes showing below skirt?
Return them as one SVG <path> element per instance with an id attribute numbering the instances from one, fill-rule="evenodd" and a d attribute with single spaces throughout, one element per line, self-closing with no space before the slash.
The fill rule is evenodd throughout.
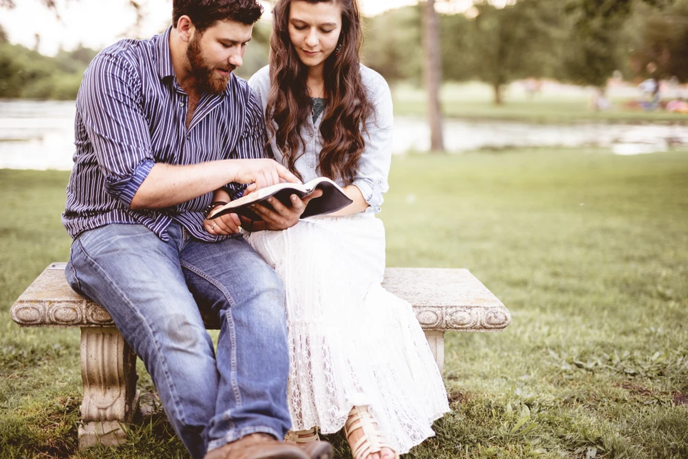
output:
<path id="1" fill-rule="evenodd" d="M 367 406 L 354 407 L 344 425 L 344 434 L 354 459 L 398 459 L 394 449 L 380 434 L 375 419 Z"/>

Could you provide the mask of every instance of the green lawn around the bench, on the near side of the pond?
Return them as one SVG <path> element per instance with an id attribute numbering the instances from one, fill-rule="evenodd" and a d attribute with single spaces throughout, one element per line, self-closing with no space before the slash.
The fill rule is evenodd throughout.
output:
<path id="1" fill-rule="evenodd" d="M 0 458 L 186 457 L 159 410 L 79 454 L 78 331 L 9 320 L 69 255 L 66 181 L 0 170 Z M 387 265 L 467 267 L 513 315 L 447 334 L 452 412 L 409 458 L 688 457 L 687 153 L 396 157 L 380 216 Z"/>

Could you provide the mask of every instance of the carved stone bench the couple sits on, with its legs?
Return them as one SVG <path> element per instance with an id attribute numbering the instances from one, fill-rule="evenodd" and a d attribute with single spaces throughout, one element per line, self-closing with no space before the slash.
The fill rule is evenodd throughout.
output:
<path id="1" fill-rule="evenodd" d="M 65 263 L 53 263 L 21 294 L 10 310 L 19 326 L 80 327 L 83 402 L 79 447 L 125 441 L 123 423 L 138 406 L 136 355 L 105 309 L 74 292 Z M 387 268 L 385 288 L 413 304 L 440 370 L 444 332 L 502 331 L 509 311 L 467 269 Z M 204 317 L 206 327 L 219 328 Z M 214 323 L 215 322 L 215 323 Z"/>

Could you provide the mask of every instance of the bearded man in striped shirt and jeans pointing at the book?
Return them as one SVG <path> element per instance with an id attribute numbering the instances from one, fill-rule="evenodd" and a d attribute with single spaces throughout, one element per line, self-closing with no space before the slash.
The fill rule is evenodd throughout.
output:
<path id="1" fill-rule="evenodd" d="M 331 458 L 327 443 L 280 441 L 289 362 L 277 275 L 241 236 L 219 236 L 238 232 L 236 216 L 205 219 L 215 190 L 234 199 L 245 184 L 298 181 L 261 159 L 261 107 L 232 74 L 261 13 L 255 0 L 174 0 L 166 32 L 94 58 L 76 100 L 65 273 L 144 361 L 193 458 Z M 217 357 L 200 309 L 222 324 Z"/>

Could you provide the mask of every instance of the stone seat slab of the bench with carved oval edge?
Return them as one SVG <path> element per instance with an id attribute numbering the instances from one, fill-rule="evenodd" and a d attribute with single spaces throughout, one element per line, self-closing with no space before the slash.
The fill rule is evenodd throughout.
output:
<path id="1" fill-rule="evenodd" d="M 94 302 L 65 280 L 65 263 L 53 263 L 21 294 L 11 309 L 21 326 L 114 326 Z M 424 330 L 502 331 L 509 311 L 468 269 L 387 268 L 385 289 L 413 304 Z M 217 321 L 204 317 L 208 328 Z"/>

